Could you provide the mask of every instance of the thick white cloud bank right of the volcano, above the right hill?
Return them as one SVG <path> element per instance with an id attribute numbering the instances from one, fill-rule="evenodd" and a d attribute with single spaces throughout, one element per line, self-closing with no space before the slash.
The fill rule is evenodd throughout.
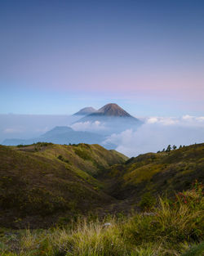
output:
<path id="1" fill-rule="evenodd" d="M 204 142 L 204 117 L 184 115 L 180 119 L 150 117 L 137 131 L 127 129 L 112 134 L 104 146 L 113 143 L 116 150 L 128 156 L 157 152 L 171 145 L 189 145 Z"/>

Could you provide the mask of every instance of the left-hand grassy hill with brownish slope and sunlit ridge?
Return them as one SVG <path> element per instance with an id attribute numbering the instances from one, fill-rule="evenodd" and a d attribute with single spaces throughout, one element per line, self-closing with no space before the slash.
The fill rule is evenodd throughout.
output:
<path id="1" fill-rule="evenodd" d="M 126 159 L 98 145 L 0 146 L 0 225 L 46 227 L 107 204 L 113 199 L 93 176 Z"/>

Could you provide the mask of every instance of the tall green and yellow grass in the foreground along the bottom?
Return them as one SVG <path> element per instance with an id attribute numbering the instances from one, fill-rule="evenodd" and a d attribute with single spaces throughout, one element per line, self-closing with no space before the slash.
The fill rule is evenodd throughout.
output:
<path id="1" fill-rule="evenodd" d="M 104 221 L 78 219 L 50 230 L 18 231 L 4 236 L 2 256 L 160 256 L 204 254 L 202 185 L 160 199 L 151 213 Z"/>

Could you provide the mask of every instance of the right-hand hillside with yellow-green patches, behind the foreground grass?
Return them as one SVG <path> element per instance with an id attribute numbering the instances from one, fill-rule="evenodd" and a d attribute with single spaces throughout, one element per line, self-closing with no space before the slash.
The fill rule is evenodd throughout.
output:
<path id="1" fill-rule="evenodd" d="M 138 202 L 144 193 L 158 195 L 190 188 L 204 180 L 204 143 L 170 152 L 148 153 L 116 164 L 103 173 L 107 191 L 114 197 Z M 110 180 L 112 182 L 110 182 Z"/>

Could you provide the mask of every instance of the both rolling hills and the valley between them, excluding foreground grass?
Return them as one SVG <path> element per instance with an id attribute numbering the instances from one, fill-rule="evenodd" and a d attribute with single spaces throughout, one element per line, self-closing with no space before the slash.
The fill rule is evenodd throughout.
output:
<path id="1" fill-rule="evenodd" d="M 204 143 L 128 159 L 99 145 L 0 146 L 0 225 L 49 227 L 78 214 L 140 211 L 148 193 L 203 182 Z"/>

